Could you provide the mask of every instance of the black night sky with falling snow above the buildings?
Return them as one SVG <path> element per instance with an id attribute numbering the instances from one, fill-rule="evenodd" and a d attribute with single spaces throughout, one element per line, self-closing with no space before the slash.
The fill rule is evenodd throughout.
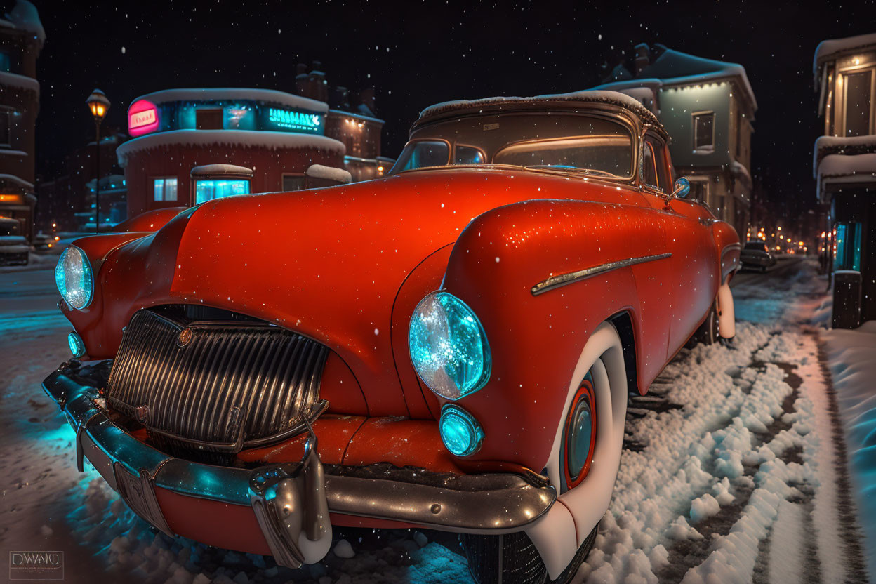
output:
<path id="1" fill-rule="evenodd" d="M 777 210 L 815 203 L 820 134 L 812 58 L 820 40 L 876 32 L 876 3 L 790 2 L 89 2 L 33 0 L 46 28 L 37 170 L 93 139 L 85 98 L 124 129 L 138 95 L 165 88 L 293 92 L 295 65 L 329 84 L 377 88 L 384 153 L 395 157 L 420 109 L 450 99 L 590 88 L 639 42 L 742 64 L 759 103 L 752 173 Z M 6 1 L 8 9 L 14 2 Z M 610 68 L 611 68 L 610 67 Z"/>

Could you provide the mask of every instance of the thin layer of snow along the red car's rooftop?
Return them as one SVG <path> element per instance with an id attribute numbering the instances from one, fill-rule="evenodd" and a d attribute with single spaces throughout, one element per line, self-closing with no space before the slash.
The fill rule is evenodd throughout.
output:
<path id="1" fill-rule="evenodd" d="M 647 109 L 635 98 L 629 95 L 618 93 L 617 91 L 574 91 L 568 94 L 548 94 L 535 95 L 533 97 L 484 97 L 476 100 L 455 100 L 452 102 L 436 103 L 423 109 L 420 112 L 420 120 L 427 117 L 439 116 L 441 114 L 449 114 L 457 111 L 466 111 L 471 109 L 503 109 L 503 106 L 518 106 L 521 104 L 536 104 L 550 102 L 581 102 L 581 103 L 611 103 L 619 107 L 629 109 L 634 114 L 646 120 L 648 123 L 661 125 L 657 120 L 657 116 L 653 115 L 650 109 Z M 418 122 L 419 123 L 419 122 Z M 661 126 L 662 127 L 662 126 Z"/>

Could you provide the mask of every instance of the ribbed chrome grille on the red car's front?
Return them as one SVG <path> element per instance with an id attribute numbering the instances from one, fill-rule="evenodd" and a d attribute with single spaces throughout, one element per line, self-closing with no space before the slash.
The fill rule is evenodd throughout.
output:
<path id="1" fill-rule="evenodd" d="M 188 307 L 141 310 L 126 327 L 109 405 L 172 443 L 237 452 L 299 433 L 319 401 L 329 349 L 237 315 L 188 320 Z"/>

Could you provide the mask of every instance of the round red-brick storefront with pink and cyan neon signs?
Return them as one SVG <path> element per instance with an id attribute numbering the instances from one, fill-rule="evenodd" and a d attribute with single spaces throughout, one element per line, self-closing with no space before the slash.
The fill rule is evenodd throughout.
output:
<path id="1" fill-rule="evenodd" d="M 168 89 L 139 97 L 128 109 L 133 139 L 117 150 L 129 216 L 297 190 L 311 165 L 343 168 L 344 144 L 325 136 L 328 113 L 324 102 L 270 89 Z M 203 169 L 212 174 L 201 176 Z M 237 171 L 225 176 L 229 169 Z"/>

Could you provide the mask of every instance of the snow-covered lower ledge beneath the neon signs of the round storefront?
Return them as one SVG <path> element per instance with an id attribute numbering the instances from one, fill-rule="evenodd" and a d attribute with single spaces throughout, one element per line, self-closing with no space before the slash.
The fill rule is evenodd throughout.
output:
<path id="1" fill-rule="evenodd" d="M 128 163 L 133 152 L 184 144 L 187 146 L 252 146 L 280 150 L 285 148 L 314 148 L 336 152 L 343 156 L 347 151 L 343 142 L 313 134 L 294 134 L 292 132 L 270 132 L 258 130 L 173 130 L 146 134 L 128 140 L 116 149 L 118 164 Z"/>

